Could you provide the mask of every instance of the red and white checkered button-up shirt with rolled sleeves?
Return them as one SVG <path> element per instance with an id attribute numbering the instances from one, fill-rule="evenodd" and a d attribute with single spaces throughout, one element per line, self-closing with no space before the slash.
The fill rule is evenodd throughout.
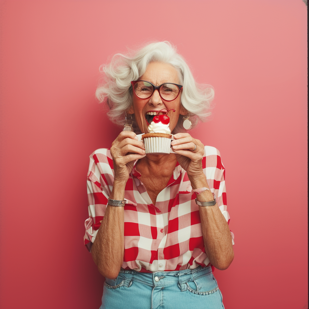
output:
<path id="1" fill-rule="evenodd" d="M 191 194 L 186 171 L 177 163 L 171 179 L 153 205 L 140 181 L 141 174 L 135 169 L 136 162 L 125 186 L 122 268 L 155 272 L 208 265 L 199 206 L 195 203 L 195 193 Z M 218 206 L 229 223 L 225 168 L 219 151 L 205 146 L 202 164 L 209 188 L 216 194 Z M 85 221 L 84 243 L 89 251 L 104 217 L 113 180 L 110 150 L 95 150 L 90 155 L 87 174 L 89 218 Z M 231 235 L 234 244 L 232 232 Z"/>

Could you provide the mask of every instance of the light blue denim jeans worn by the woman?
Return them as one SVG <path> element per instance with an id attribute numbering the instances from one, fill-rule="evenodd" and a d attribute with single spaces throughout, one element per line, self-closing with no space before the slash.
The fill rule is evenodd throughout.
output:
<path id="1" fill-rule="evenodd" d="M 106 278 L 99 309 L 224 309 L 211 267 L 139 273 L 121 269 Z"/>

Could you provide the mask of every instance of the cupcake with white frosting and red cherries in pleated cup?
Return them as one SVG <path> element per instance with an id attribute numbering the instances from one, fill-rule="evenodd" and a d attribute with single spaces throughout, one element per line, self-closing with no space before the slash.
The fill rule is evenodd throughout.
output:
<path id="1" fill-rule="evenodd" d="M 175 112 L 175 109 L 172 111 Z M 169 111 L 167 111 L 168 113 Z M 170 117 L 158 114 L 148 126 L 149 133 L 143 134 L 146 154 L 169 154 L 171 150 L 171 130 L 169 128 Z"/>

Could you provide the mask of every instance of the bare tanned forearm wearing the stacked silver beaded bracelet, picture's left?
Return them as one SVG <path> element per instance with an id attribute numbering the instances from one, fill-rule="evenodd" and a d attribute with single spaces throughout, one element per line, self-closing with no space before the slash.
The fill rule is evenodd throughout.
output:
<path id="1" fill-rule="evenodd" d="M 111 199 L 124 200 L 125 184 L 114 184 Z M 99 272 L 109 279 L 118 276 L 124 256 L 124 208 L 107 205 L 95 237 L 92 258 Z"/>

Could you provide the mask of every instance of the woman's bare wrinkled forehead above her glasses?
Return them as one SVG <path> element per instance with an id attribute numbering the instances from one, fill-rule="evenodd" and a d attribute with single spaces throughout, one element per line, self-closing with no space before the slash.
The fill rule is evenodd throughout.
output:
<path id="1" fill-rule="evenodd" d="M 178 71 L 168 63 L 150 62 L 145 73 L 139 78 L 159 86 L 163 83 L 179 84 Z"/>

